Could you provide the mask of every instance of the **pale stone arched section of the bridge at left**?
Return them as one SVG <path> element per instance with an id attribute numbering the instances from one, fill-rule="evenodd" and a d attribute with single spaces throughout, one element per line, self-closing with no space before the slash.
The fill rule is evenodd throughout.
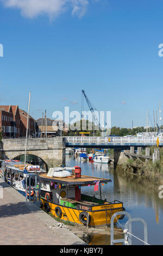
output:
<path id="1" fill-rule="evenodd" d="M 14 159 L 23 155 L 26 139 L 2 139 L 3 159 Z M 27 154 L 35 155 L 50 167 L 65 165 L 65 141 L 57 138 L 30 138 L 27 144 Z"/>

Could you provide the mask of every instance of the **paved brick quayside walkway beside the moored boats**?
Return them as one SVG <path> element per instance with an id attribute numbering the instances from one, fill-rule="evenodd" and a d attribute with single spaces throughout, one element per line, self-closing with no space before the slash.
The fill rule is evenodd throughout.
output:
<path id="1" fill-rule="evenodd" d="M 66 228 L 50 228 L 58 222 L 2 179 L 0 186 L 1 245 L 86 245 Z"/>

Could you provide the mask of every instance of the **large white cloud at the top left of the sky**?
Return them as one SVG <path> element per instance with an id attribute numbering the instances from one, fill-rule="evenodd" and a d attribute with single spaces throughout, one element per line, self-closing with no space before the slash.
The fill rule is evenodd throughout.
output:
<path id="1" fill-rule="evenodd" d="M 52 19 L 68 9 L 72 10 L 72 15 L 82 17 L 92 0 L 0 0 L 0 2 L 3 2 L 4 7 L 20 9 L 24 17 L 33 18 L 46 14 Z"/>

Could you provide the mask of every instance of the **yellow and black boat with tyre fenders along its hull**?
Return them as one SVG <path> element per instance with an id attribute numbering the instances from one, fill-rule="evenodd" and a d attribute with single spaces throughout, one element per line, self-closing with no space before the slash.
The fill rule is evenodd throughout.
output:
<path id="1" fill-rule="evenodd" d="M 47 174 L 41 174 L 40 208 L 61 220 L 88 227 L 110 225 L 111 216 L 125 210 L 122 202 L 107 202 L 101 198 L 101 184 L 111 180 L 82 175 L 81 172 L 80 167 L 74 166 L 51 168 Z M 84 186 L 94 186 L 94 191 L 99 188 L 101 199 L 83 194 Z M 115 222 L 123 217 L 123 214 L 118 215 Z"/>

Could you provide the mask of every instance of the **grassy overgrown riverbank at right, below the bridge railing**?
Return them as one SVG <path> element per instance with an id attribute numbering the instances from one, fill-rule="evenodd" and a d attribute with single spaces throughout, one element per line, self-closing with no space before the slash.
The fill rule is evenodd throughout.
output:
<path id="1" fill-rule="evenodd" d="M 154 147 L 150 148 L 150 154 L 154 152 Z M 154 184 L 163 184 L 163 148 L 159 148 L 160 161 L 128 159 L 122 164 L 122 168 L 129 173 L 136 174 L 142 178 L 147 178 Z"/>

